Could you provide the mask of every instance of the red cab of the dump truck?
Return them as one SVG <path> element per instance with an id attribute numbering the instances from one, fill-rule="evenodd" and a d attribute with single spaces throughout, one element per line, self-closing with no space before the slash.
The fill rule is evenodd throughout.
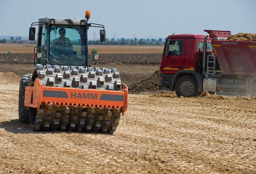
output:
<path id="1" fill-rule="evenodd" d="M 195 82 L 200 81 L 200 84 L 202 83 L 200 74 L 202 73 L 204 38 L 205 35 L 202 34 L 173 34 L 168 36 L 160 66 L 160 85 L 162 87 L 169 87 L 171 90 L 175 90 L 177 80 L 188 75 Z M 210 39 L 207 39 L 207 53 L 212 54 Z M 190 96 L 192 89 L 189 90 L 189 88 L 193 84 L 192 82 L 187 84 L 190 87 L 185 87 L 186 89 L 188 88 L 186 94 Z M 196 87 L 198 88 L 197 91 L 202 91 L 200 84 L 195 84 L 193 89 Z M 176 89 L 177 91 L 179 89 Z"/>

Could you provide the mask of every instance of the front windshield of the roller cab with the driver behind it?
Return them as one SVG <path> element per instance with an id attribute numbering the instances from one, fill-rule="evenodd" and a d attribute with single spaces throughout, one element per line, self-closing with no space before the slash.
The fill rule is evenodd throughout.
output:
<path id="1" fill-rule="evenodd" d="M 84 35 L 83 26 L 51 26 L 49 64 L 83 65 L 87 61 Z"/>

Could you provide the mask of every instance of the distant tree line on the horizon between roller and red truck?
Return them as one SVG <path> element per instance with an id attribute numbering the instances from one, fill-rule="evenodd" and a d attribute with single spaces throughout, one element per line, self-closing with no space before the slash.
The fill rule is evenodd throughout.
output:
<path id="1" fill-rule="evenodd" d="M 115 40 L 114 38 L 112 39 L 106 39 L 106 42 L 101 42 L 100 40 L 89 40 L 88 44 L 89 45 L 164 45 L 166 39 L 159 38 L 157 39 L 125 39 L 125 38 L 120 38 Z"/>

